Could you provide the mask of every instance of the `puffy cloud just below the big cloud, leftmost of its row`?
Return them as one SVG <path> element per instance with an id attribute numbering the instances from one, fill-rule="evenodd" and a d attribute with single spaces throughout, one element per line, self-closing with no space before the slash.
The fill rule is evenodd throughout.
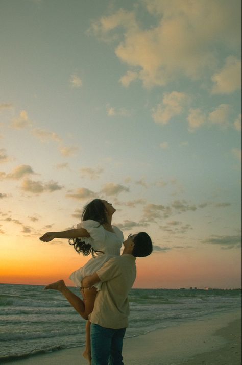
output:
<path id="1" fill-rule="evenodd" d="M 188 102 L 189 96 L 184 92 L 173 91 L 170 94 L 164 94 L 162 103 L 152 110 L 155 123 L 167 124 L 172 117 L 183 112 Z"/>

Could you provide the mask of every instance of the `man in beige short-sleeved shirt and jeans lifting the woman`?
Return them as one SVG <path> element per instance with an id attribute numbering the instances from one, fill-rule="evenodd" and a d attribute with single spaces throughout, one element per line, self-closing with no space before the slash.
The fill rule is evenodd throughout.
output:
<path id="1" fill-rule="evenodd" d="M 102 282 L 96 295 L 91 322 L 92 365 L 123 365 L 123 338 L 128 326 L 128 294 L 136 278 L 136 257 L 152 253 L 152 241 L 146 232 L 129 235 L 121 256 L 113 257 L 97 272 L 86 276 L 82 287 Z"/>

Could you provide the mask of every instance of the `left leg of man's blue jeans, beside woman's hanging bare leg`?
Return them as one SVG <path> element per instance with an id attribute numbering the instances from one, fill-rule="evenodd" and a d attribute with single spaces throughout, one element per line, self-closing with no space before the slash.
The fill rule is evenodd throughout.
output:
<path id="1" fill-rule="evenodd" d="M 113 330 L 91 324 L 91 363 L 108 365 L 111 353 Z"/>

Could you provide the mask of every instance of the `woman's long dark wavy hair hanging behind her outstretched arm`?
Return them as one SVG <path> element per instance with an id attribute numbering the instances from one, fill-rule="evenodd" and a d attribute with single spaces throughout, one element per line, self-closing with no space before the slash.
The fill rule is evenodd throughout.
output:
<path id="1" fill-rule="evenodd" d="M 82 222 L 88 220 L 99 222 L 100 225 L 107 223 L 107 211 L 101 199 L 94 199 L 85 205 L 82 213 Z M 96 253 L 103 253 L 103 251 L 94 250 L 90 244 L 86 244 L 85 241 L 81 241 L 78 237 L 69 239 L 69 244 L 74 246 L 79 254 L 82 252 L 83 256 L 88 256 L 91 253 L 92 257 L 95 257 Z"/>

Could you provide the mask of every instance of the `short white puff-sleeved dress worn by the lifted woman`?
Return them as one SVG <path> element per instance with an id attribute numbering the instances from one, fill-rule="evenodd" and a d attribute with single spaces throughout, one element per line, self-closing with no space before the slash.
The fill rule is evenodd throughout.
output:
<path id="1" fill-rule="evenodd" d="M 95 273 L 105 262 L 110 258 L 119 256 L 120 249 L 124 241 L 123 232 L 116 226 L 112 226 L 114 232 L 107 231 L 99 222 L 88 220 L 77 225 L 77 229 L 84 228 L 90 234 L 90 237 L 78 237 L 86 244 L 90 244 L 94 250 L 99 250 L 104 253 L 97 253 L 97 256 L 91 258 L 84 266 L 74 271 L 69 279 L 74 282 L 77 287 L 82 286 L 82 279 Z M 94 286 L 96 289 L 101 289 L 102 283 L 99 282 Z"/>

